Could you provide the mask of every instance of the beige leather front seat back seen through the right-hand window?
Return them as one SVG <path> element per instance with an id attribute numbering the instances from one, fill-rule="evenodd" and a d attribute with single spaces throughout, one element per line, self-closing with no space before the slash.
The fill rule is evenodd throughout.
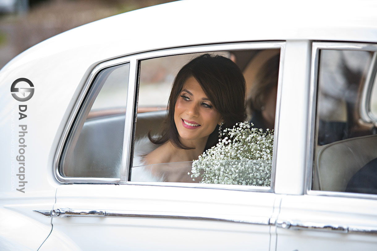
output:
<path id="1" fill-rule="evenodd" d="M 344 192 L 352 176 L 374 158 L 377 158 L 377 135 L 317 147 L 313 190 Z"/>

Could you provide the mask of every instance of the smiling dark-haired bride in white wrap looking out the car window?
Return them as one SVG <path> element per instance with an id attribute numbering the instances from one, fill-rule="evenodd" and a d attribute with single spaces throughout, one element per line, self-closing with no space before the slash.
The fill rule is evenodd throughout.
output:
<path id="1" fill-rule="evenodd" d="M 133 166 L 144 168 L 132 168 L 131 181 L 192 182 L 187 171 L 182 181 L 167 169 L 198 159 L 216 145 L 219 128 L 232 128 L 244 119 L 245 79 L 238 66 L 222 56 L 194 58 L 175 77 L 162 132 L 148 135 L 153 144 L 144 151 L 137 150 L 140 142 L 135 144 Z M 163 163 L 176 165 L 159 165 Z"/>

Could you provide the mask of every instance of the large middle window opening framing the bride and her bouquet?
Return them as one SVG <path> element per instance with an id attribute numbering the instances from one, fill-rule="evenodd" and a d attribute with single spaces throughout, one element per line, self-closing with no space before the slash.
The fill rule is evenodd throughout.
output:
<path id="1" fill-rule="evenodd" d="M 279 60 L 268 49 L 141 61 L 130 180 L 269 187 Z"/>

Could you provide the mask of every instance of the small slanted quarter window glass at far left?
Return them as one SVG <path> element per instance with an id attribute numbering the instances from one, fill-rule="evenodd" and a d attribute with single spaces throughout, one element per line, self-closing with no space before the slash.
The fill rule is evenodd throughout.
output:
<path id="1" fill-rule="evenodd" d="M 70 130 L 61 175 L 120 178 L 129 64 L 98 73 Z"/>

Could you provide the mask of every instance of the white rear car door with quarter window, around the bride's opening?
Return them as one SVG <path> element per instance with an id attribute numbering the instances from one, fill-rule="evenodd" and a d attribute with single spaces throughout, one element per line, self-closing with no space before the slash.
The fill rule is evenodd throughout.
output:
<path id="1" fill-rule="evenodd" d="M 280 204 L 274 193 L 276 163 L 270 187 L 129 181 L 129 167 L 143 118 L 137 114 L 135 128 L 141 60 L 276 49 L 282 58 L 282 42 L 235 43 L 148 52 L 98 65 L 58 147 L 55 175 L 64 184 L 57 188 L 54 210 L 46 212 L 53 230 L 40 250 L 274 250 L 271 218 Z M 107 92 L 111 102 L 101 101 Z M 93 108 L 101 104 L 106 109 Z"/>

